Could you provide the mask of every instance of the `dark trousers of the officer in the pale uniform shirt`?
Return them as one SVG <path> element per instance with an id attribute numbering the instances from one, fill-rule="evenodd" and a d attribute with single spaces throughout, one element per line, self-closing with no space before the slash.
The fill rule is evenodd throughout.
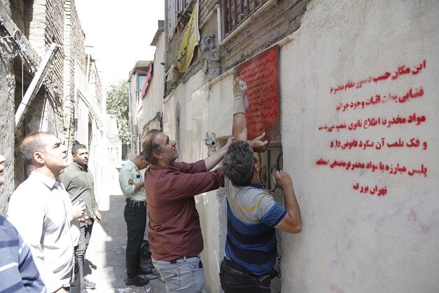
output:
<path id="1" fill-rule="evenodd" d="M 140 247 L 146 228 L 146 207 L 125 205 L 123 216 L 127 222 L 127 275 L 128 278 L 134 278 L 140 264 Z"/>

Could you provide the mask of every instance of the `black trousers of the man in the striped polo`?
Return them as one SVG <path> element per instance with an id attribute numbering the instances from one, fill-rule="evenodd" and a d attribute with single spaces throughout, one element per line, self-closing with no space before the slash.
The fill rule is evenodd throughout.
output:
<path id="1" fill-rule="evenodd" d="M 270 275 L 253 275 L 226 258 L 220 268 L 221 288 L 225 293 L 270 293 Z"/>

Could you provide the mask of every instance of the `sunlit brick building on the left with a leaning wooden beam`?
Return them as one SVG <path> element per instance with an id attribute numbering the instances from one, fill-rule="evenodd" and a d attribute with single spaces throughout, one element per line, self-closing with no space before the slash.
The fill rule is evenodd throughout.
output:
<path id="1" fill-rule="evenodd" d="M 0 213 L 29 175 L 18 147 L 34 131 L 51 132 L 69 148 L 74 140 L 88 145 L 99 189 L 109 162 L 102 156 L 108 154 L 107 123 L 74 1 L 0 0 L 0 37 L 0 153 L 8 161 Z"/>

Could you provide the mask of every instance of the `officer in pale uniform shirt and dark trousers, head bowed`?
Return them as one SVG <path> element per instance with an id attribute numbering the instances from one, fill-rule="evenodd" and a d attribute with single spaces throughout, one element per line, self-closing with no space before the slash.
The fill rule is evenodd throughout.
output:
<path id="1" fill-rule="evenodd" d="M 140 267 L 140 247 L 146 227 L 146 194 L 140 170 L 148 165 L 145 156 L 140 154 L 123 165 L 119 172 L 120 189 L 127 203 L 123 211 L 125 222 L 127 222 L 127 252 L 125 254 L 127 280 L 125 284 L 139 287 L 148 284 L 149 280 L 140 278 L 138 275 L 151 273 L 151 270 L 144 271 Z"/>

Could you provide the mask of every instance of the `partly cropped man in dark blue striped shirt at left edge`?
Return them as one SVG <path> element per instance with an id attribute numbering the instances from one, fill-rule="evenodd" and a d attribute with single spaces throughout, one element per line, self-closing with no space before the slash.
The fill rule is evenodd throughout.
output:
<path id="1" fill-rule="evenodd" d="M 0 155 L 0 185 L 6 159 Z M 32 253 L 17 229 L 0 216 L 0 292 L 47 292 Z"/>

